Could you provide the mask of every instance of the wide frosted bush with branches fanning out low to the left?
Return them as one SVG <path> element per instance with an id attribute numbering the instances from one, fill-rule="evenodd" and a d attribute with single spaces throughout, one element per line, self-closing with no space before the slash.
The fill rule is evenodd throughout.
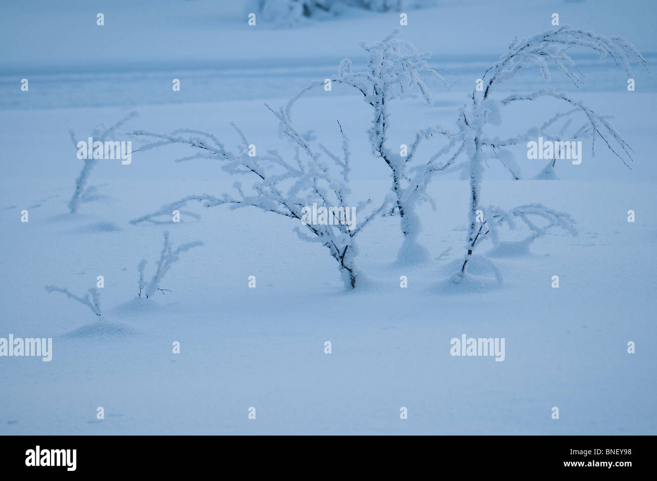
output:
<path id="1" fill-rule="evenodd" d="M 270 109 L 271 110 L 271 109 Z M 360 213 L 371 203 L 368 199 L 355 207 L 348 205 L 350 151 L 349 140 L 342 131 L 342 155 L 330 152 L 323 144 L 311 145 L 290 123 L 284 109 L 271 111 L 283 126 L 284 135 L 292 140 L 291 160 L 286 160 L 279 150 L 268 150 L 266 154 L 250 156 L 250 142 L 244 133 L 235 125 L 242 142 L 237 153 L 226 150 L 223 144 L 210 133 L 200 131 L 180 130 L 170 135 L 137 131 L 134 135 L 155 138 L 157 142 L 143 146 L 148 150 L 156 146 L 169 144 L 186 144 L 197 148 L 199 152 L 193 156 L 178 159 L 184 161 L 193 158 L 209 158 L 221 161 L 221 168 L 233 175 L 248 175 L 256 180 L 248 192 L 242 190 L 239 182 L 235 182 L 236 194 L 215 197 L 207 194 L 187 196 L 170 203 L 158 211 L 131 220 L 133 224 L 140 222 L 157 222 L 156 219 L 168 216 L 173 209 L 185 207 L 190 201 L 202 203 L 205 207 L 229 205 L 232 209 L 256 207 L 265 212 L 275 213 L 281 217 L 294 219 L 299 224 L 294 231 L 302 240 L 320 243 L 328 249 L 331 257 L 338 263 L 344 285 L 354 289 L 361 273 L 355 266 L 357 247 L 355 236 L 380 214 L 390 199 L 386 198 L 380 207 L 373 209 L 360 222 L 355 222 L 353 214 Z M 185 136 L 183 136 L 185 135 Z M 328 163 L 324 163 L 323 157 Z M 323 219 L 317 215 L 317 221 L 309 219 L 309 209 L 322 213 Z"/>

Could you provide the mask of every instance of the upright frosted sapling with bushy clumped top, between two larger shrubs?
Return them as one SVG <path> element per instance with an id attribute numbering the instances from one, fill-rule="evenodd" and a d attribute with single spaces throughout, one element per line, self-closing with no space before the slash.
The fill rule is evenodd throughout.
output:
<path id="1" fill-rule="evenodd" d="M 431 173 L 440 169 L 436 161 L 440 154 L 432 157 L 419 170 L 411 173 L 411 161 L 415 157 L 417 147 L 421 140 L 433 135 L 443 135 L 450 139 L 449 148 L 457 143 L 457 139 L 451 140 L 454 133 L 442 129 L 442 127 L 428 127 L 420 130 L 415 135 L 415 140 L 407 152 L 407 156 L 401 156 L 399 149 L 388 146 L 390 128 L 390 114 L 388 108 L 390 102 L 396 98 L 419 96 L 427 104 L 432 104 L 433 99 L 420 77 L 422 73 L 428 73 L 436 79 L 445 83 L 443 77 L 431 68 L 426 62 L 431 52 L 419 52 L 412 43 L 397 38 L 399 29 L 391 35 L 378 41 L 373 45 L 361 42 L 361 47 L 367 52 L 367 67 L 361 72 L 352 70 L 351 60 L 344 58 L 340 62 L 337 75 L 332 75 L 332 83 L 348 85 L 363 95 L 363 100 L 371 106 L 373 117 L 371 127 L 368 130 L 369 143 L 373 155 L 380 158 L 388 168 L 392 177 L 392 191 L 396 197 L 396 205 L 390 211 L 397 213 L 400 218 L 401 232 L 404 241 L 397 259 L 403 262 L 422 262 L 430 258 L 430 255 L 422 247 L 417 238 L 420 233 L 420 219 L 415 213 L 415 205 L 419 201 L 431 201 L 424 191 L 424 186 Z M 292 106 L 305 93 L 325 85 L 325 81 L 313 81 L 292 98 L 286 108 L 286 118 L 291 119 Z M 447 85 L 445 83 L 445 85 Z M 449 149 L 441 154 L 445 154 Z"/>

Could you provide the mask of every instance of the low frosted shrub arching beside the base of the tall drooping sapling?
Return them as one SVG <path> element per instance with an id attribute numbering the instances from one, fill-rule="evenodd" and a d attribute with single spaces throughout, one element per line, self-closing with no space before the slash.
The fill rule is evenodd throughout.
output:
<path id="1" fill-rule="evenodd" d="M 526 253 L 534 240 L 545 236 L 555 228 L 560 228 L 573 237 L 578 234 L 575 221 L 570 215 L 553 211 L 538 203 L 520 205 L 510 212 L 497 207 L 488 207 L 484 213 L 486 218 L 480 223 L 475 235 L 475 242 L 480 242 L 485 237 L 490 238 L 494 248 L 489 255 Z M 520 241 L 501 242 L 499 240 L 499 227 L 507 224 L 509 230 L 515 230 L 516 222 L 514 219 L 520 219 L 524 222 L 531 233 Z"/>

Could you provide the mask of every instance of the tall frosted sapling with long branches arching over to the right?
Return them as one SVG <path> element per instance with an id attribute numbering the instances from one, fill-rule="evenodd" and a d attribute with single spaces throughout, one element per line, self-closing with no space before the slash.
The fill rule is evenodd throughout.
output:
<path id="1" fill-rule="evenodd" d="M 579 85 L 583 82 L 583 75 L 576 67 L 572 58 L 568 56 L 568 49 L 574 46 L 592 49 L 600 57 L 610 55 L 617 65 L 622 66 L 628 77 L 633 77 L 631 68 L 629 67 L 630 59 L 634 59 L 640 64 L 643 64 L 643 66 L 646 66 L 643 56 L 623 37 L 606 37 L 575 29 L 568 25 L 538 33 L 522 41 L 516 39 L 510 43 L 509 51 L 501 56 L 500 60 L 491 66 L 484 74 L 484 77 L 482 77 L 483 90 L 478 92 L 475 89 L 471 96 L 472 102 L 461 108 L 459 121 L 457 122 L 461 131 L 461 138 L 463 138 L 465 152 L 468 156 L 470 209 L 466 255 L 464 256 L 461 270 L 453 278 L 455 282 L 460 282 L 466 274 L 468 261 L 474 252 L 476 243 L 481 238 L 481 236 L 478 236 L 480 234 L 480 225 L 476 221 L 476 216 L 479 210 L 481 182 L 486 154 L 491 155 L 492 158 L 499 159 L 509 169 L 512 176 L 518 178 L 514 169 L 505 162 L 503 156 L 499 155 L 499 150 L 506 146 L 525 144 L 528 141 L 537 139 L 539 136 L 543 136 L 543 138 L 551 141 L 560 141 L 562 140 L 561 138 L 550 135 L 545 129 L 560 117 L 580 112 L 587 120 L 587 127 L 583 130 L 579 129 L 576 135 L 581 135 L 581 133 L 590 129 L 593 135 L 593 142 L 591 144 L 592 152 L 595 153 L 595 136 L 599 136 L 611 152 L 629 167 L 627 161 L 632 160 L 630 154 L 631 148 L 629 148 L 622 136 L 608 121 L 608 115 L 596 114 L 581 100 L 576 100 L 567 94 L 557 93 L 550 89 L 526 94 L 512 94 L 501 100 L 497 100 L 491 95 L 501 83 L 514 77 L 520 69 L 533 65 L 539 67 L 545 81 L 550 80 L 549 64 L 554 64 L 575 85 Z M 486 134 L 485 128 L 487 124 L 501 124 L 501 111 L 505 106 L 518 102 L 528 102 L 537 98 L 552 98 L 566 102 L 568 110 L 566 112 L 560 112 L 552 119 L 543 123 L 541 127 L 531 127 L 525 133 L 520 133 L 510 138 L 491 137 Z M 507 157 L 508 159 L 509 157 Z"/>

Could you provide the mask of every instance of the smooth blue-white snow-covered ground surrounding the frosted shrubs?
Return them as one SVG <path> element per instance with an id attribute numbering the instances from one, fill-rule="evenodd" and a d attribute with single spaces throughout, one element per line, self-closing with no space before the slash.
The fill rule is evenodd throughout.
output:
<path id="1" fill-rule="evenodd" d="M 394 10 L 353 9 L 296 28 L 249 27 L 250 10 L 230 2 L 135 3 L 0 7 L 0 41 L 10 45 L 0 52 L 0 338 L 53 339 L 50 362 L 0 356 L 0 434 L 657 434 L 657 351 L 648 344 L 657 335 L 654 3 L 451 1 L 408 10 L 407 26 Z M 399 216 L 377 215 L 355 237 L 362 275 L 353 290 L 326 247 L 294 232 L 298 219 L 191 202 L 180 222 L 131 222 L 192 194 L 233 195 L 235 180 L 249 188 L 256 178 L 231 175 L 215 159 L 175 162 L 194 154 L 185 146 L 138 150 L 147 140 L 127 133 L 198 129 L 237 152 L 234 121 L 258 155 L 289 154 L 292 142 L 265 103 L 285 106 L 311 80 L 336 74 L 345 56 L 353 70 L 367 68 L 359 41 L 401 28 L 402 39 L 433 52 L 429 64 L 449 90 L 428 79 L 432 105 L 392 101 L 387 141 L 399 154 L 419 129 L 456 129 L 476 79 L 514 37 L 555 28 L 553 12 L 562 25 L 623 35 L 652 74 L 631 64 L 630 92 L 612 58 L 574 51 L 586 75 L 579 88 L 556 68 L 545 83 L 532 66 L 495 94 L 550 87 L 613 114 L 631 169 L 599 136 L 591 156 L 588 136 L 581 164 L 560 159 L 556 178 L 537 180 L 548 161 L 528 159 L 523 143 L 504 157 L 520 180 L 488 155 L 478 193 L 484 211 L 541 204 L 567 213 L 576 236 L 555 228 L 527 247 L 532 231 L 516 219 L 515 230 L 499 226 L 497 249 L 489 238 L 478 244 L 468 274 L 453 282 L 470 228 L 466 154 L 431 178 L 434 205 L 417 205 L 417 240 L 430 257 L 397 259 Z M 559 107 L 540 99 L 510 106 L 486 129 L 520 135 Z M 100 160 L 89 176 L 96 190 L 70 213 L 83 160 L 69 130 L 86 140 L 95 125 L 133 111 L 139 116 L 116 136 L 133 142 L 131 163 Z M 379 205 L 390 194 L 390 169 L 371 152 L 372 117 L 363 95 L 336 82 L 293 108 L 313 146 L 341 152 L 336 120 L 350 138 L 348 205 Z M 442 145 L 427 139 L 415 161 Z M 156 286 L 170 290 L 139 298 L 137 266 L 146 259 L 150 279 L 164 231 L 174 248 L 204 245 L 181 253 Z M 100 318 L 44 289 L 83 295 L 97 276 Z M 505 339 L 503 362 L 451 355 L 463 334 Z"/>

